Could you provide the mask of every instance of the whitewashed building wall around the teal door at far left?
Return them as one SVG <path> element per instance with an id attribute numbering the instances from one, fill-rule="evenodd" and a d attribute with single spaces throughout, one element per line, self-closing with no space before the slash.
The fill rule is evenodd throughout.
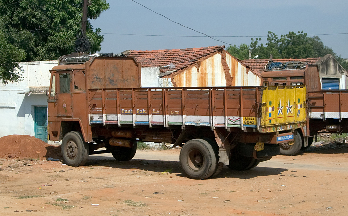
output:
<path id="1" fill-rule="evenodd" d="M 12 134 L 34 136 L 34 106 L 47 106 L 43 94 L 18 94 L 29 92 L 29 87 L 49 86 L 52 67 L 58 61 L 21 62 L 22 82 L 0 84 L 0 137 Z"/>

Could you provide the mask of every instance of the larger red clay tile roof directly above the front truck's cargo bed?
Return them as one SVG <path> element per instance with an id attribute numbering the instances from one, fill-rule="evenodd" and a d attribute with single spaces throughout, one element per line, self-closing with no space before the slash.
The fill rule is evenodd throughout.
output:
<path id="1" fill-rule="evenodd" d="M 224 48 L 225 46 L 173 50 L 130 50 L 126 56 L 135 58 L 141 63 L 142 67 L 163 67 L 173 64 L 175 68 L 160 68 L 160 73 L 169 73 L 169 71 L 175 72 L 194 64 L 198 59 L 223 50 Z"/>

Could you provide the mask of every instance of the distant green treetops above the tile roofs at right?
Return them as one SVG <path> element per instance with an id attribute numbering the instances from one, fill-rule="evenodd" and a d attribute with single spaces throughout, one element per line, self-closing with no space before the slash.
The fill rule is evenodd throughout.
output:
<path id="1" fill-rule="evenodd" d="M 286 35 L 276 35 L 268 32 L 267 42 L 261 43 L 261 38 L 251 39 L 250 45 L 241 44 L 240 47 L 229 46 L 227 51 L 239 59 L 248 59 L 249 50 L 251 56 L 259 55 L 260 59 L 268 59 L 272 54 L 274 59 L 278 58 L 316 58 L 332 54 L 342 65 L 343 59 L 338 56 L 330 47 L 324 45 L 318 36 L 308 37 L 303 31 L 289 32 Z"/>

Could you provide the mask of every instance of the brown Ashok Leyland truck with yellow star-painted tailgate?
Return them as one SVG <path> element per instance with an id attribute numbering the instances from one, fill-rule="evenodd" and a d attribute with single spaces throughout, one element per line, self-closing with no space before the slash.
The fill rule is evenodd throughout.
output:
<path id="1" fill-rule="evenodd" d="M 305 86 L 141 88 L 141 65 L 133 58 L 59 62 L 47 92 L 49 140 L 62 140 L 70 166 L 106 152 L 127 161 L 138 141 L 165 142 L 182 147 L 189 178 L 204 179 L 223 164 L 246 170 L 269 160 L 306 125 Z M 298 101 L 301 107 L 290 108 L 296 115 L 287 115 L 282 104 Z"/>

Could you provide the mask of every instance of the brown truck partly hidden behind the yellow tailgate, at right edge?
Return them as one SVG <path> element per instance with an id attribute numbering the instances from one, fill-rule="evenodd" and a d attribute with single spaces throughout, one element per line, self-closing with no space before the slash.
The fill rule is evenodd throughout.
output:
<path id="1" fill-rule="evenodd" d="M 280 144 L 282 155 L 295 155 L 308 148 L 318 133 L 348 132 L 348 90 L 339 90 L 338 78 L 325 78 L 322 89 L 317 65 L 268 70 L 261 76 L 264 86 L 307 86 L 307 127 L 298 129 L 301 140 L 295 140 L 293 145 Z"/>

